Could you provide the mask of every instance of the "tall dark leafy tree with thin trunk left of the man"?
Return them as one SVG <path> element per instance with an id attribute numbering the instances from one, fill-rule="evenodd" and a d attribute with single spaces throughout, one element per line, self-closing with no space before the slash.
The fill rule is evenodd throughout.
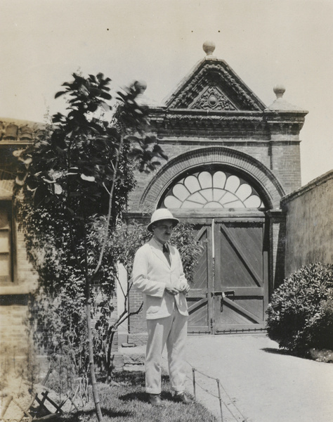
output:
<path id="1" fill-rule="evenodd" d="M 105 247 L 135 184 L 131 160 L 141 172 L 150 172 L 159 165 L 157 158 L 167 157 L 148 134 L 148 110 L 137 101 L 140 83 L 118 93 L 111 115 L 110 79 L 100 73 L 73 76 L 55 95 L 69 98 L 67 115 L 54 115 L 33 145 L 15 152 L 20 167 L 14 196 L 41 291 L 53 304 L 65 304 L 68 312 L 74 307 L 72 327 L 62 321 L 64 333 L 75 331 L 85 306 L 93 399 L 102 421 L 93 359 L 92 286 L 98 283 L 109 294 L 115 288 L 115 263 L 106 259 Z M 101 216 L 103 241 L 97 250 L 90 234 Z M 82 339 L 73 335 L 72 341 Z"/>

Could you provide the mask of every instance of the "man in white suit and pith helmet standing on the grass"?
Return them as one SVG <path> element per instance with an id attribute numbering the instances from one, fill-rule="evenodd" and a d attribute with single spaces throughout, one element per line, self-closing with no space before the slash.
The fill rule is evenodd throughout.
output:
<path id="1" fill-rule="evenodd" d="M 169 210 L 156 210 L 148 224 L 152 239 L 136 252 L 133 286 L 144 294 L 148 342 L 145 356 L 145 390 L 153 406 L 164 407 L 161 393 L 161 359 L 168 352 L 171 388 L 177 401 L 189 404 L 185 395 L 185 341 L 188 307 L 185 295 L 190 286 L 185 279 L 181 256 L 168 241 L 179 220 Z"/>

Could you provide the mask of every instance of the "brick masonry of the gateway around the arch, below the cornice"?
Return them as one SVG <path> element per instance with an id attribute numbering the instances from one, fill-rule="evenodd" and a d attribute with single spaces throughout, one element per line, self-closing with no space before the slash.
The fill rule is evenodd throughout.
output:
<path id="1" fill-rule="evenodd" d="M 240 172 L 244 179 L 256 181 L 272 209 L 268 218 L 271 247 L 268 291 L 271 294 L 285 275 L 285 215 L 279 209 L 285 192 L 298 188 L 301 183 L 299 141 L 235 141 L 208 137 L 199 140 L 193 136 L 192 139 L 188 137 L 177 141 L 164 137 L 160 143 L 169 160 L 152 174 L 136 174 L 138 186 L 129 197 L 129 210 L 149 215 L 174 179 L 200 166 L 209 168 L 211 164 L 219 164 L 230 172 Z M 141 294 L 132 292 L 129 301 L 131 310 L 136 309 L 141 300 Z M 129 341 L 141 344 L 146 330 L 143 316 L 132 316 Z"/>

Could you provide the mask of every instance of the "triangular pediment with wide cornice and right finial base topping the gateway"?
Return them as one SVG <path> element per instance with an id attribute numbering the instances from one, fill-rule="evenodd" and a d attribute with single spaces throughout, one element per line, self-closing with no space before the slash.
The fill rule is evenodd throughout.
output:
<path id="1" fill-rule="evenodd" d="M 150 108 L 150 123 L 159 139 L 270 139 L 299 140 L 307 111 L 283 100 L 268 108 L 224 61 L 206 56 L 164 99 Z M 281 98 L 280 98 L 281 97 Z"/>

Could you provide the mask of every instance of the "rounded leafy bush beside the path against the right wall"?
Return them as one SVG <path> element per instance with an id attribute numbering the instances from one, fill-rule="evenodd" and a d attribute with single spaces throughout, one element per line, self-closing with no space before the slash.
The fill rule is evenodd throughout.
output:
<path id="1" fill-rule="evenodd" d="M 285 279 L 267 309 L 267 331 L 279 346 L 301 356 L 333 350 L 333 265 L 309 264 Z"/>

